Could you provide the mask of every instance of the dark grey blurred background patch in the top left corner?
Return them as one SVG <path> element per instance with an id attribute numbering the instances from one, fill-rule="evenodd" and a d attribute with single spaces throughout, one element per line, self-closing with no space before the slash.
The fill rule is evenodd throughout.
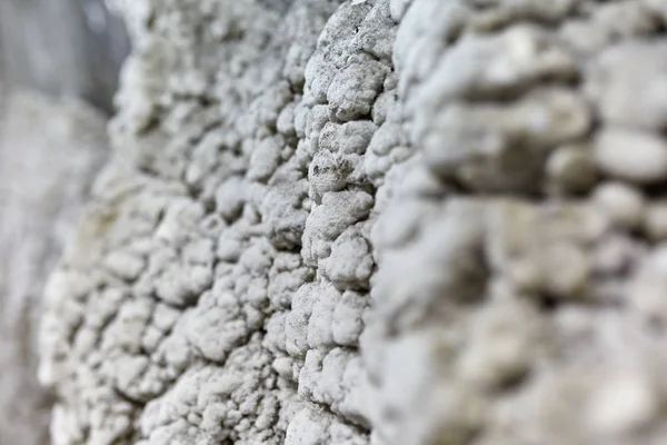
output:
<path id="1" fill-rule="evenodd" d="M 11 88 L 67 95 L 110 111 L 129 51 L 104 0 L 1 0 L 0 77 Z"/>

